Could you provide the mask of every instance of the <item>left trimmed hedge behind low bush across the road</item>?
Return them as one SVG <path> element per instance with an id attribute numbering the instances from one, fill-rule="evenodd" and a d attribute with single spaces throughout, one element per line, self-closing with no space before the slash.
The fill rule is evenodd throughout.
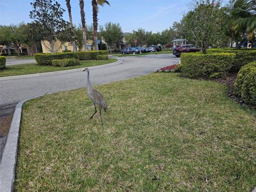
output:
<path id="1" fill-rule="evenodd" d="M 55 59 L 70 59 L 74 57 L 73 52 L 66 53 L 36 53 L 35 59 L 38 65 L 52 65 Z"/>

